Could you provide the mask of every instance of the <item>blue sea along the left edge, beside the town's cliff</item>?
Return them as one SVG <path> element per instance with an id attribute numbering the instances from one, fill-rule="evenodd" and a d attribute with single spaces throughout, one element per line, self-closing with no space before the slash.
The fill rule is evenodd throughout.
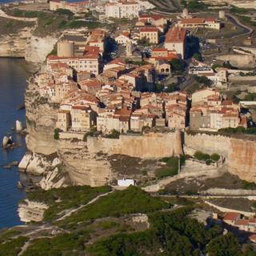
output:
<path id="1" fill-rule="evenodd" d="M 17 206 L 26 194 L 17 188 L 20 178 L 18 168 L 14 166 L 6 170 L 2 166 L 20 161 L 26 151 L 24 136 L 15 134 L 11 128 L 16 120 L 25 124 L 25 110 L 17 110 L 17 106 L 24 102 L 26 79 L 29 76 L 25 60 L 0 58 L 0 142 L 2 146 L 2 137 L 12 134 L 14 141 L 19 144 L 14 150 L 0 147 L 0 230 L 22 223 L 18 218 Z"/>

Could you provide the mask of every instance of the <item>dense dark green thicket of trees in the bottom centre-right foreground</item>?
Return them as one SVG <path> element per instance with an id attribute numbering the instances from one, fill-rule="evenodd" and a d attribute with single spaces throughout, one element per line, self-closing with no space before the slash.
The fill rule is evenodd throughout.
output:
<path id="1" fill-rule="evenodd" d="M 183 207 L 150 214 L 150 230 L 112 235 L 94 242 L 87 251 L 97 256 L 199 255 L 222 230 L 219 226 L 206 230 L 203 224 L 187 216 L 192 209 Z"/>

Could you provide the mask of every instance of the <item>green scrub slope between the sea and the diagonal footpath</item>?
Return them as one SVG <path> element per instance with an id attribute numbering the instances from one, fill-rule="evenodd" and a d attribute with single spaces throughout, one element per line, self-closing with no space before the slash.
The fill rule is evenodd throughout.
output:
<path id="1" fill-rule="evenodd" d="M 44 213 L 44 220 L 52 221 L 54 218 L 61 217 L 59 214 L 63 210 L 84 205 L 99 194 L 104 194 L 110 190 L 110 186 L 69 186 L 66 188 L 31 192 L 27 198 L 31 201 L 43 202 L 50 206 Z"/>

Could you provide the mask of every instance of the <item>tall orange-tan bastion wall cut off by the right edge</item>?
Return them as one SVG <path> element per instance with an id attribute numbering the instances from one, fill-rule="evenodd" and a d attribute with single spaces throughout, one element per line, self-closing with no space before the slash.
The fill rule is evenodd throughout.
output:
<path id="1" fill-rule="evenodd" d="M 230 173 L 248 182 L 256 182 L 256 141 L 230 138 Z"/>

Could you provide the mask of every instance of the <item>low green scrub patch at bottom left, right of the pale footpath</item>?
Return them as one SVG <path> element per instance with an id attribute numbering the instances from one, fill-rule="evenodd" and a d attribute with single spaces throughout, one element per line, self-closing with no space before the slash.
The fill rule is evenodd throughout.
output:
<path id="1" fill-rule="evenodd" d="M 82 255 L 85 250 L 85 242 L 90 235 L 88 231 L 80 231 L 72 234 L 59 234 L 54 238 L 39 238 L 31 242 L 30 246 L 22 254 L 23 256 L 61 256 Z M 3 255 L 3 254 L 1 254 Z"/>

